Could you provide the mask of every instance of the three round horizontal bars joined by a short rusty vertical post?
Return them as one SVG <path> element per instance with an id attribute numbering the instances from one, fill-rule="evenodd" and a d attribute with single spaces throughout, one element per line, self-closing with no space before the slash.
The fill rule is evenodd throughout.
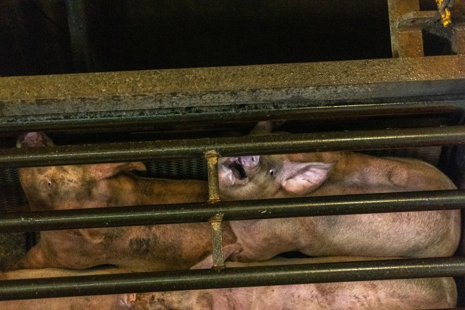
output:
<path id="1" fill-rule="evenodd" d="M 351 133 L 320 134 L 313 140 L 308 134 L 271 135 L 245 137 L 252 139 L 228 145 L 210 143 L 198 145 L 191 141 L 196 151 L 205 154 L 209 168 L 209 203 L 141 206 L 131 210 L 125 208 L 99 208 L 80 210 L 61 210 L 23 214 L 10 214 L 0 220 L 0 231 L 27 231 L 30 229 L 65 229 L 72 227 L 109 227 L 119 225 L 144 225 L 161 223 L 189 223 L 209 220 L 212 225 L 212 244 L 214 245 L 214 269 L 199 271 L 164 271 L 157 273 L 130 273 L 111 276 L 65 277 L 41 280 L 0 281 L 0 300 L 19 298 L 46 298 L 53 288 L 54 296 L 76 296 L 101 293 L 122 293 L 134 291 L 162 291 L 180 289 L 207 289 L 218 287 L 238 287 L 254 285 L 285 285 L 291 283 L 330 282 L 347 280 L 382 280 L 391 278 L 422 278 L 434 276 L 465 275 L 465 258 L 428 258 L 426 260 L 393 260 L 372 262 L 344 262 L 333 264 L 291 265 L 273 267 L 247 267 L 242 269 L 225 269 L 222 254 L 221 229 L 222 220 L 276 218 L 293 216 L 322 216 L 335 214 L 362 214 L 391 211 L 418 211 L 431 209 L 459 209 L 465 207 L 464 191 L 411 192 L 395 194 L 367 194 L 351 196 L 327 196 L 313 198 L 293 198 L 280 200 L 258 200 L 241 202 L 218 202 L 218 178 L 216 160 L 217 149 L 229 155 L 234 152 L 293 152 L 304 149 L 344 149 L 343 141 L 355 142 L 355 149 L 373 147 L 390 147 L 393 145 L 438 145 L 442 143 L 457 144 L 464 141 L 464 127 L 451 126 L 439 128 L 413 128 L 404 130 L 364 131 Z M 264 139 L 262 143 L 255 138 Z M 269 140 L 271 139 L 271 140 Z M 208 140 L 208 139 L 207 139 Z M 210 141 L 211 142 L 211 141 Z M 30 166 L 72 163 L 81 161 L 79 150 L 87 153 L 86 162 L 121 161 L 145 158 L 144 156 L 169 157 L 185 147 L 180 156 L 193 156 L 188 141 L 179 145 L 167 146 L 163 141 L 159 145 L 137 143 L 133 149 L 123 143 L 114 157 L 99 158 L 89 149 L 73 147 L 45 147 L 43 149 L 8 149 L 0 156 L 0 163 L 5 166 Z M 360 144 L 358 144 L 360 143 Z M 386 144 L 384 144 L 386 143 Z M 153 144 L 153 143 L 152 143 Z M 145 152 L 141 152 L 146 147 Z M 220 145 L 218 147 L 218 145 Z M 291 147 L 289 147 L 289 145 Z M 111 145 L 110 145 L 111 146 Z M 114 145 L 113 145 L 114 146 Z M 121 147 L 121 145 L 119 145 Z M 223 148 L 222 148 L 223 147 Z M 55 149 L 53 151 L 53 149 Z M 118 147 L 116 147 L 118 149 Z M 205 151 L 207 149 L 207 151 Z M 242 151 L 240 151 L 242 149 Z M 37 150 L 34 159 L 29 156 Z M 114 150 L 114 148 L 113 148 Z M 50 152 L 53 151 L 53 152 Z M 58 151 L 58 152 L 55 152 Z M 104 149 L 102 154 L 112 154 Z M 166 152 L 165 152 L 166 151 Z M 228 153 L 231 152 L 231 153 Z M 12 155 L 13 154 L 13 155 Z M 45 158 L 40 159 L 40 155 Z M 45 154 L 45 155 L 44 155 Z M 50 158 L 47 158 L 47 154 Z M 55 156 L 51 156 L 54 154 Z M 64 155 L 63 155 L 64 154 Z M 135 155 L 137 154 L 137 155 Z M 95 156 L 90 156 L 95 155 Z M 76 156 L 73 158 L 73 156 Z M 123 158 L 121 158 L 123 156 Z M 174 156 L 179 157 L 179 156 Z M 25 158 L 25 159 L 24 159 Z M 39 158 L 39 160 L 37 160 Z M 66 159 L 68 158 L 68 159 Z M 180 207 L 180 209 L 178 209 Z M 265 212 L 263 212 L 265 210 Z M 386 265 L 387 264 L 387 265 Z M 326 273 L 322 273 L 325 271 Z M 255 280 L 251 280 L 255 279 Z M 260 279 L 260 280 L 257 280 Z M 269 281 L 268 281 L 269 280 Z M 87 281 L 87 282 L 86 282 Z M 180 283 L 182 283 L 180 285 Z M 76 289 L 79 287 L 79 289 Z"/>

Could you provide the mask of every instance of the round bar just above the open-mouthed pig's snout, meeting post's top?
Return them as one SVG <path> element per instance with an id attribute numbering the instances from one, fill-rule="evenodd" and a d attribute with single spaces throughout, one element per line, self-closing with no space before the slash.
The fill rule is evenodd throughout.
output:
<path id="1" fill-rule="evenodd" d="M 386 149 L 465 143 L 465 127 L 421 127 L 392 130 L 271 134 L 228 138 L 70 145 L 1 149 L 0 167 L 71 165 L 114 161 L 148 161 L 155 158 L 203 156 L 214 149 L 220 156 Z"/>

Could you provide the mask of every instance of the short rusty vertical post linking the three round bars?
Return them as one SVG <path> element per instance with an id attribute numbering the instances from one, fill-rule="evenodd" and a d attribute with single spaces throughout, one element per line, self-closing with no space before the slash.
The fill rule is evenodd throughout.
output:
<path id="1" fill-rule="evenodd" d="M 207 159 L 207 175 L 208 175 L 208 202 L 218 203 L 220 201 L 220 185 L 218 181 L 218 152 L 210 150 L 204 153 Z M 223 258 L 223 231 L 221 224 L 223 223 L 223 216 L 216 214 L 210 218 L 211 225 L 211 249 L 213 256 L 213 268 L 225 268 L 225 260 Z"/>

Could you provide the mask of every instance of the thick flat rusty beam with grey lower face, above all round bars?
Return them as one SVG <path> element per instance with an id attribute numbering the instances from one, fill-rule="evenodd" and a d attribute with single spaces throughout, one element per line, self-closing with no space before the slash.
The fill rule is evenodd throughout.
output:
<path id="1" fill-rule="evenodd" d="M 449 55 L 2 77 L 0 116 L 464 94 L 464 65 L 464 55 Z"/>

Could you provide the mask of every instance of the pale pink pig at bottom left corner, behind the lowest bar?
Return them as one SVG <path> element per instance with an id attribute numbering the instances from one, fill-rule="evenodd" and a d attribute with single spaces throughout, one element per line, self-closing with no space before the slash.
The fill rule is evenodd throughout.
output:
<path id="1" fill-rule="evenodd" d="M 51 278 L 63 276 L 91 276 L 129 272 L 124 269 L 73 271 L 65 269 L 23 269 L 0 273 L 0 280 Z M 30 300 L 0 301 L 0 310 L 130 310 L 125 295 L 97 295 Z"/>

